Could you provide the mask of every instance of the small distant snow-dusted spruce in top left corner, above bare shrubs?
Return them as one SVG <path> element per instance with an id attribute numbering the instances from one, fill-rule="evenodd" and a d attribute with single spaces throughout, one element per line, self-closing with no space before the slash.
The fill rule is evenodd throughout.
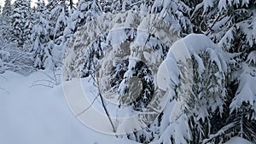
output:
<path id="1" fill-rule="evenodd" d="M 26 23 L 29 20 L 29 3 L 27 0 L 16 0 L 13 4 L 13 12 L 10 15 L 11 40 L 23 47 L 27 38 Z"/>

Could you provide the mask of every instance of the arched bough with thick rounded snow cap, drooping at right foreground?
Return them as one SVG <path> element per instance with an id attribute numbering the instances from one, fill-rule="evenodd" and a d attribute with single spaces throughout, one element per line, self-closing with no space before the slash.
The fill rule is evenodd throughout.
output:
<path id="1" fill-rule="evenodd" d="M 180 72 L 178 79 L 173 58 Z M 173 84 L 177 88 L 163 112 L 160 127 L 164 128 L 157 143 L 201 143 L 211 134 L 211 114 L 221 115 L 224 109 L 226 61 L 224 51 L 201 34 L 190 34 L 172 45 L 157 81 L 160 89 L 172 89 Z"/>

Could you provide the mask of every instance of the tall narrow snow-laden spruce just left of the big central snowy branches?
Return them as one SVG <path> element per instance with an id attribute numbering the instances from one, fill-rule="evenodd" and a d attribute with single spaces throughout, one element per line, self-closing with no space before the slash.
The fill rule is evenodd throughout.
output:
<path id="1" fill-rule="evenodd" d="M 66 49 L 68 33 L 65 32 L 70 21 L 70 10 L 65 0 L 51 1 L 47 5 L 46 13 L 49 21 L 49 49 L 53 55 L 55 66 L 61 66 L 63 52 Z"/>

